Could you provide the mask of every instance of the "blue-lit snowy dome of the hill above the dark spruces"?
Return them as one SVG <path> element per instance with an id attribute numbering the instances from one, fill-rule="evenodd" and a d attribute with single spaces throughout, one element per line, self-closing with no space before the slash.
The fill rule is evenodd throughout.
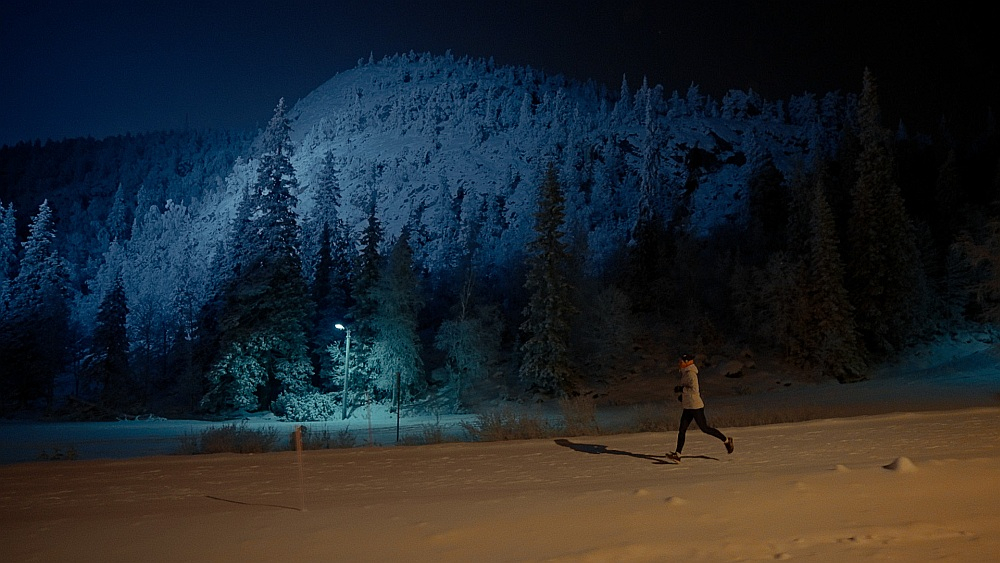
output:
<path id="1" fill-rule="evenodd" d="M 695 86 L 667 98 L 645 83 L 631 93 L 624 81 L 611 97 L 530 67 L 411 53 L 359 64 L 295 104 L 299 212 L 314 212 L 332 153 L 339 215 L 355 232 L 374 204 L 387 240 L 409 225 L 431 270 L 473 236 L 482 263 L 502 264 L 523 251 L 553 164 L 566 230 L 586 237 L 576 242 L 599 266 L 641 215 L 695 234 L 744 221 L 755 167 L 770 157 L 788 172 L 828 150 L 849 102 L 806 95 L 786 106 L 734 91 L 719 103 Z"/>

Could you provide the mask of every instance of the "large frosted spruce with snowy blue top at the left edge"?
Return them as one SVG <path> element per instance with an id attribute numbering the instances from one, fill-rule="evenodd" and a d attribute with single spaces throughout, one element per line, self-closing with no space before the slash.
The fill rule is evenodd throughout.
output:
<path id="1" fill-rule="evenodd" d="M 17 276 L 0 311 L 0 385 L 21 404 L 46 399 L 65 367 L 69 335 L 66 266 L 55 248 L 48 200 L 32 219 Z"/>

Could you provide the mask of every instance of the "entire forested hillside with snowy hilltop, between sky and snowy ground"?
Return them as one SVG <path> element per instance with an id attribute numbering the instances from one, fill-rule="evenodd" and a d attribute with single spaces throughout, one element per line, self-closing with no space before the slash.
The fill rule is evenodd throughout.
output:
<path id="1" fill-rule="evenodd" d="M 867 71 L 716 100 L 409 53 L 260 131 L 5 146 L 0 415 L 468 412 L 682 351 L 863 380 L 1000 320 L 982 113 L 883 123 Z"/>

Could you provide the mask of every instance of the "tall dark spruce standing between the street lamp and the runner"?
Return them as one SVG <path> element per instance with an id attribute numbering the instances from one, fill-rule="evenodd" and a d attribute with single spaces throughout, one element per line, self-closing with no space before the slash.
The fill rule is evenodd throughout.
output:
<path id="1" fill-rule="evenodd" d="M 527 340 L 521 345 L 519 375 L 529 387 L 550 396 L 574 391 L 568 350 L 570 321 L 576 310 L 567 278 L 571 261 L 563 241 L 565 218 L 562 187 L 555 168 L 549 166 L 539 189 L 536 237 L 526 249 L 524 287 L 530 295 L 521 324 Z"/>

